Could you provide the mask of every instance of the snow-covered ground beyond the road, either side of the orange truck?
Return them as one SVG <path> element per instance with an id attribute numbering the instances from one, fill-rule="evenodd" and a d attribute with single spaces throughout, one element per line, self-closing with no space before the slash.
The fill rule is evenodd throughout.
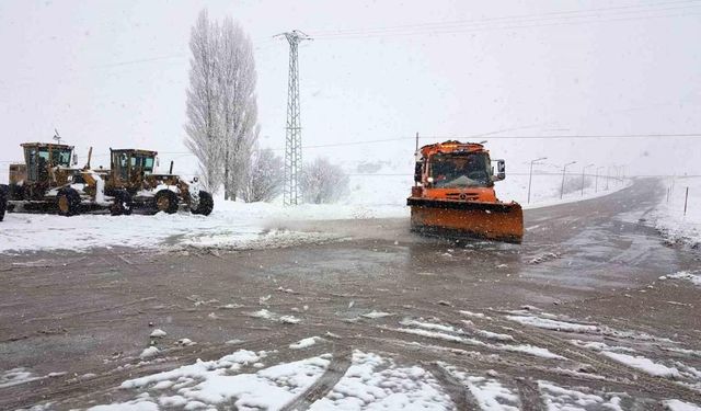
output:
<path id="1" fill-rule="evenodd" d="M 304 204 L 283 207 L 280 202 L 245 204 L 215 198 L 210 216 L 188 213 L 156 216 L 8 214 L 0 224 L 0 252 L 39 250 L 82 251 L 92 248 L 269 248 L 300 242 L 332 240 L 323 232 L 301 233 L 276 230 L 290 220 L 363 219 L 409 217 L 405 206 L 412 175 L 397 173 L 391 164 L 380 165 L 374 173 L 350 173 L 349 193 L 337 204 Z M 570 186 L 578 187 L 571 176 Z M 625 186 L 611 182 L 609 190 L 585 189 L 565 194 L 560 199 L 561 176 L 536 175 L 531 203 L 527 204 L 527 175 L 512 175 L 497 184 L 503 201 L 516 199 L 525 208 L 587 199 L 609 194 Z M 572 184 L 574 183 L 574 184 Z M 701 208 L 701 207 L 700 207 Z"/>

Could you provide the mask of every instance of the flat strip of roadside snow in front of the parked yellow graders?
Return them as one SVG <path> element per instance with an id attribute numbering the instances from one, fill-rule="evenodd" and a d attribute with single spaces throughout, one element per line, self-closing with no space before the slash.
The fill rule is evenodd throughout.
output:
<path id="1" fill-rule="evenodd" d="M 0 252 L 85 251 L 116 247 L 255 249 L 336 238 L 314 232 L 271 230 L 273 214 L 261 213 L 253 204 L 244 206 L 239 212 L 215 210 L 208 217 L 188 213 L 74 217 L 9 214 L 0 226 Z"/>

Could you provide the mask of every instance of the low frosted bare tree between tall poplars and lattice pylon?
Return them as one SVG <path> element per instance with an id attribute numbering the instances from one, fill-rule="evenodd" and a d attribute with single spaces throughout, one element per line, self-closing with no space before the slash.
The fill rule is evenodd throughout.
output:
<path id="1" fill-rule="evenodd" d="M 269 148 L 258 150 L 253 155 L 251 170 L 241 190 L 241 197 L 248 203 L 269 202 L 280 193 L 284 182 L 283 158 L 276 156 Z"/>

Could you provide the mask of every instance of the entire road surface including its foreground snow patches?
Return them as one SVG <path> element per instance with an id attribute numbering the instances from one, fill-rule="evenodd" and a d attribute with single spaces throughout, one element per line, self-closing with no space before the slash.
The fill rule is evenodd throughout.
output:
<path id="1" fill-rule="evenodd" d="M 528 210 L 521 246 L 371 219 L 272 250 L 3 255 L 0 409 L 693 409 L 701 287 L 674 274 L 700 255 L 625 217 L 660 195 Z"/>

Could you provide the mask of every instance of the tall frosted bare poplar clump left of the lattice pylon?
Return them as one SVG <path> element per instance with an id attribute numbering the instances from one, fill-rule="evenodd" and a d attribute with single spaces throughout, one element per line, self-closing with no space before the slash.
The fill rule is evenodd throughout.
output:
<path id="1" fill-rule="evenodd" d="M 257 139 L 255 61 L 251 39 L 231 19 L 202 11 L 191 38 L 186 145 L 199 160 L 205 185 L 235 199 Z"/>

